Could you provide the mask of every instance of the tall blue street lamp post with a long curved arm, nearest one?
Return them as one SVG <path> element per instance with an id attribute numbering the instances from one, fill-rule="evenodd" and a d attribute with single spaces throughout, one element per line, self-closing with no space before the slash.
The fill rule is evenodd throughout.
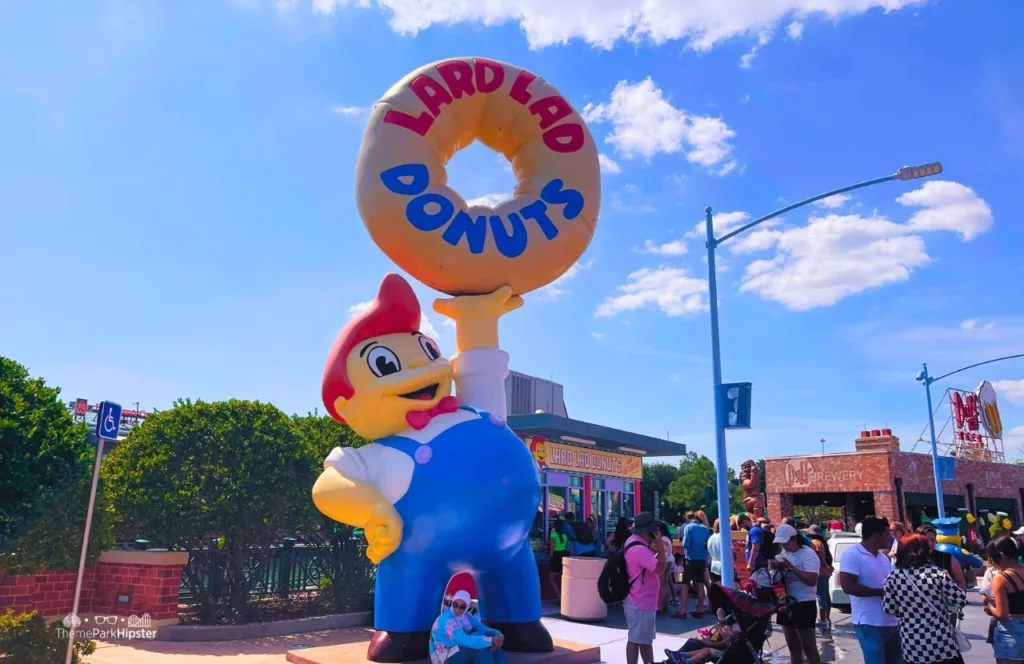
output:
<path id="1" fill-rule="evenodd" d="M 935 162 L 932 164 L 925 164 L 924 166 L 904 166 L 892 175 L 886 175 L 885 177 L 877 177 L 874 179 L 866 180 L 863 182 L 858 182 L 856 184 L 850 184 L 849 186 L 843 186 L 838 190 L 833 190 L 830 192 L 825 192 L 824 194 L 819 194 L 812 198 L 800 201 L 799 203 L 794 203 L 793 205 L 787 205 L 784 208 L 775 210 L 770 214 L 766 214 L 763 217 L 755 219 L 750 223 L 742 225 L 731 233 L 727 233 L 721 238 L 715 238 L 715 219 L 712 215 L 711 207 L 705 208 L 705 224 L 706 232 L 708 236 L 708 295 L 710 298 L 711 306 L 711 357 L 712 357 L 712 375 L 714 377 L 714 388 L 715 388 L 715 464 L 718 487 L 718 520 L 722 524 L 722 528 L 728 528 L 729 524 L 729 475 L 728 475 L 728 464 L 726 461 L 725 453 L 725 407 L 724 401 L 725 396 L 722 393 L 722 352 L 719 344 L 719 325 L 718 325 L 718 280 L 715 274 L 715 249 L 718 248 L 720 244 L 726 240 L 749 231 L 754 226 L 764 223 L 769 219 L 773 219 L 780 214 L 785 214 L 791 210 L 795 210 L 799 207 L 809 205 L 815 201 L 820 201 L 821 199 L 828 198 L 829 196 L 836 196 L 837 194 L 844 194 L 846 192 L 852 192 L 853 190 L 863 189 L 865 186 L 871 186 L 872 184 L 881 184 L 882 182 L 889 182 L 892 180 L 911 180 L 918 179 L 920 177 L 928 177 L 929 175 L 937 175 L 942 172 L 942 164 Z M 732 546 L 723 545 L 722 546 L 722 584 L 727 588 L 733 588 L 733 562 L 732 562 Z"/>

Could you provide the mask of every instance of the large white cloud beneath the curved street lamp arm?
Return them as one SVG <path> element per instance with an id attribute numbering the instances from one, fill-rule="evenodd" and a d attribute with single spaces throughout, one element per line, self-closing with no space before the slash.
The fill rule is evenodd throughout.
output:
<path id="1" fill-rule="evenodd" d="M 915 211 L 906 223 L 834 213 L 812 216 L 802 227 L 753 233 L 737 242 L 734 253 L 774 246 L 775 255 L 750 263 L 739 289 L 794 310 L 828 306 L 871 288 L 906 281 L 914 269 L 929 264 L 921 232 L 956 232 L 967 241 L 992 223 L 988 205 L 957 182 L 928 182 L 897 201 L 925 209 Z"/>

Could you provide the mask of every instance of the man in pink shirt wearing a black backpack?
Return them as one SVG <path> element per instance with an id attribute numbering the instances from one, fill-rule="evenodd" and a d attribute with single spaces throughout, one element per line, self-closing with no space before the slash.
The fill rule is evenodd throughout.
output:
<path id="1" fill-rule="evenodd" d="M 604 564 L 597 580 L 597 590 L 605 604 L 623 603 L 626 626 L 626 661 L 644 664 L 654 661 L 654 635 L 657 631 L 657 600 L 662 590 L 662 576 L 670 551 L 657 534 L 658 522 L 654 514 L 645 511 L 633 522 L 633 535 L 626 540 L 622 551 L 613 551 Z"/>

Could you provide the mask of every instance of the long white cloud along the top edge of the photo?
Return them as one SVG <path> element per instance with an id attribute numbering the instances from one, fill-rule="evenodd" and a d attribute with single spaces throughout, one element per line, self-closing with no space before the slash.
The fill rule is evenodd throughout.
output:
<path id="1" fill-rule="evenodd" d="M 333 13 L 348 6 L 370 7 L 370 0 L 311 0 L 313 9 Z M 416 35 L 431 26 L 458 23 L 486 27 L 518 24 L 530 48 L 582 40 L 610 49 L 618 41 L 663 44 L 684 41 L 707 51 L 717 44 L 754 34 L 786 20 L 821 17 L 836 23 L 871 9 L 894 11 L 928 0 L 377 0 L 391 30 Z"/>

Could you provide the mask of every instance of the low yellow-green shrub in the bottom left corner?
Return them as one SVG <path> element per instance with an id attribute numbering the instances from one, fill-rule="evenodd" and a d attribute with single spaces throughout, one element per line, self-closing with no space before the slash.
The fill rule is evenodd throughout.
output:
<path id="1" fill-rule="evenodd" d="M 0 662 L 10 664 L 54 664 L 62 662 L 68 652 L 68 631 L 47 623 L 35 611 L 15 614 L 8 609 L 0 615 Z M 96 644 L 75 639 L 72 662 L 84 662 Z"/>

